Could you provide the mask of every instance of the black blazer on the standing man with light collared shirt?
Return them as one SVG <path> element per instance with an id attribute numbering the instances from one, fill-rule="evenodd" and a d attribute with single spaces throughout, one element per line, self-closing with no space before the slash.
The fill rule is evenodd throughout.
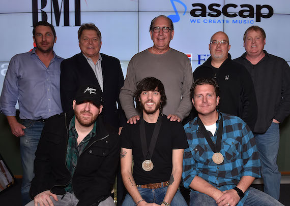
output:
<path id="1" fill-rule="evenodd" d="M 104 101 L 102 116 L 105 123 L 118 129 L 127 121 L 119 101 L 124 76 L 119 59 L 102 53 L 101 56 Z M 72 101 L 82 85 L 97 85 L 101 89 L 92 67 L 83 54 L 79 53 L 61 63 L 61 101 L 64 112 L 72 110 Z"/>

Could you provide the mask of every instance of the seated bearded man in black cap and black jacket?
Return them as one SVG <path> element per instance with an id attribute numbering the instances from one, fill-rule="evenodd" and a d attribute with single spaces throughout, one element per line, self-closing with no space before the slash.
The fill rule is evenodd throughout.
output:
<path id="1" fill-rule="evenodd" d="M 110 191 L 118 166 L 119 135 L 103 124 L 96 86 L 81 87 L 73 110 L 47 120 L 34 162 L 27 205 L 115 205 Z M 39 204 L 37 204 L 37 202 Z"/>

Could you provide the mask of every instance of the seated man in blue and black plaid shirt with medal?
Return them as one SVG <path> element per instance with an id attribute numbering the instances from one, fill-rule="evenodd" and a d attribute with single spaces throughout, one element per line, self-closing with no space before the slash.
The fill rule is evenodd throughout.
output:
<path id="1" fill-rule="evenodd" d="M 217 111 L 219 88 L 201 78 L 191 87 L 198 117 L 184 128 L 183 184 L 190 188 L 190 205 L 282 205 L 251 188 L 260 178 L 260 160 L 253 133 L 239 117 Z"/>

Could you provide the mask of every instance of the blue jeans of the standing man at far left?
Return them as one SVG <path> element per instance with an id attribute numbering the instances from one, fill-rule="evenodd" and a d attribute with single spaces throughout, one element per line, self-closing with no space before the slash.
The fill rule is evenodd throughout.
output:
<path id="1" fill-rule="evenodd" d="M 35 159 L 35 152 L 40 139 L 40 135 L 44 126 L 44 122 L 33 120 L 21 120 L 26 129 L 24 136 L 20 137 L 20 154 L 23 169 L 22 185 L 21 185 L 21 198 L 22 205 L 30 202 L 29 190 L 31 181 L 34 178 L 33 164 Z"/>

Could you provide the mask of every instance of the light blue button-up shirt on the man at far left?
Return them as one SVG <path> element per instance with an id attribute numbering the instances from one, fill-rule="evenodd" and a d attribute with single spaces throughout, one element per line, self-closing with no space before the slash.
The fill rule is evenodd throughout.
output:
<path id="1" fill-rule="evenodd" d="M 46 67 L 34 48 L 31 52 L 12 57 L 0 97 L 0 111 L 15 116 L 19 103 L 20 119 L 47 119 L 62 113 L 60 95 L 61 62 L 55 55 Z"/>

